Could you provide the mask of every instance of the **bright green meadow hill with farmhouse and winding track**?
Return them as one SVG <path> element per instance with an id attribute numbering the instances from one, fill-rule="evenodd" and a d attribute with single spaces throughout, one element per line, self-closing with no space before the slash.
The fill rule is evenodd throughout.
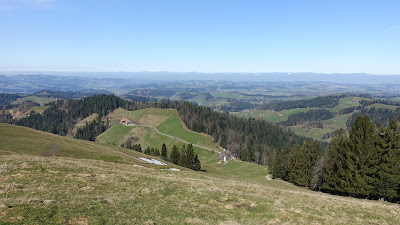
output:
<path id="1" fill-rule="evenodd" d="M 115 113 L 111 113 L 113 116 Z M 118 115 L 126 115 L 125 112 L 119 112 Z M 148 108 L 137 111 L 131 111 L 129 118 L 135 124 L 147 125 L 156 127 L 160 132 L 175 137 L 179 137 L 187 142 L 198 144 L 200 146 L 215 149 L 216 153 L 212 154 L 209 150 L 194 147 L 202 163 L 202 168 L 206 171 L 214 171 L 215 173 L 225 173 L 228 168 L 219 168 L 218 151 L 220 148 L 212 142 L 208 135 L 190 131 L 184 127 L 175 109 L 156 109 Z M 103 134 L 97 137 L 100 143 L 115 144 L 120 146 L 128 137 L 138 138 L 137 144 L 141 144 L 142 149 L 153 147 L 161 149 L 163 143 L 167 145 L 168 150 L 172 149 L 173 145 L 179 149 L 185 144 L 177 139 L 166 137 L 158 134 L 154 129 L 147 127 L 125 126 L 119 123 L 114 124 Z M 229 164 L 229 163 L 228 163 Z M 267 168 L 260 169 L 261 173 L 267 174 Z"/>

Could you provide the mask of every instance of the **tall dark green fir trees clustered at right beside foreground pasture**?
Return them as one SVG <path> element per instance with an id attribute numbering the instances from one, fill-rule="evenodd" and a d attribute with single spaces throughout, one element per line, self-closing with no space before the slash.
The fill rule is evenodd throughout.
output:
<path id="1" fill-rule="evenodd" d="M 325 154 L 318 143 L 276 151 L 273 174 L 299 186 L 332 194 L 400 201 L 400 133 L 395 118 L 387 127 L 358 116 L 348 134 L 338 130 Z"/>

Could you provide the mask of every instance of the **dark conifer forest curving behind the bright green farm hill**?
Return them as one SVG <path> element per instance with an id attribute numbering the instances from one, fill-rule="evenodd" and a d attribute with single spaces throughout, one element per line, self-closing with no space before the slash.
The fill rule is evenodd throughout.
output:
<path id="1" fill-rule="evenodd" d="M 257 164 L 271 163 L 273 149 L 298 144 L 303 140 L 284 127 L 265 120 L 239 118 L 183 101 L 132 102 L 115 95 L 95 95 L 82 99 L 58 100 L 49 106 L 43 114 L 31 112 L 29 117 L 8 122 L 67 135 L 72 134 L 72 129 L 79 120 L 93 113 L 102 118 L 119 107 L 130 111 L 150 107 L 175 108 L 189 129 L 211 135 L 214 142 L 229 149 L 235 156 Z M 97 119 L 79 128 L 75 137 L 95 140 L 107 127 L 107 122 Z"/>

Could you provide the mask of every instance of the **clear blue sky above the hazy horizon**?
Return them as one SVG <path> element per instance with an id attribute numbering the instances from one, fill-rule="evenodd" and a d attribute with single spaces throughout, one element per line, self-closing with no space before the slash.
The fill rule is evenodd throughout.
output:
<path id="1" fill-rule="evenodd" d="M 0 0 L 0 70 L 400 74 L 400 1 Z"/>

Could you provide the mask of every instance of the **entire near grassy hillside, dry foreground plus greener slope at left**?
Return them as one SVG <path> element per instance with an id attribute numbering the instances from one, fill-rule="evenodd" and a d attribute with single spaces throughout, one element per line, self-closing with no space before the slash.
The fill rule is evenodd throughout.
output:
<path id="1" fill-rule="evenodd" d="M 49 145 L 58 157 L 47 157 Z M 216 155 L 216 154 L 214 154 Z M 107 144 L 0 124 L 0 221 L 18 224 L 397 224 L 400 206 L 266 179 L 230 161 L 163 170 Z M 153 158 L 153 157 L 152 157 Z M 143 167 L 140 167 L 143 166 Z M 260 172 L 261 171 L 261 172 Z"/>

